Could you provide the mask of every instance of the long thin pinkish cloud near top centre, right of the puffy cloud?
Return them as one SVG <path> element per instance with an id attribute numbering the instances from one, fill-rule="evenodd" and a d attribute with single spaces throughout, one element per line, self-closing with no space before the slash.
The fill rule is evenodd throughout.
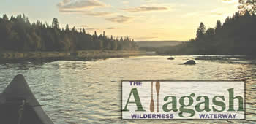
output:
<path id="1" fill-rule="evenodd" d="M 149 12 L 149 11 L 163 11 L 168 10 L 168 7 L 149 7 L 149 6 L 140 6 L 140 7 L 130 7 L 127 9 L 121 9 L 127 12 Z"/>

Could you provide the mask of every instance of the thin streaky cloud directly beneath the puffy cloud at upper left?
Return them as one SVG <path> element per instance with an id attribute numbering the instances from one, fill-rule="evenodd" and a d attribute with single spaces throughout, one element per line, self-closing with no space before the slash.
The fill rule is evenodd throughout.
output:
<path id="1" fill-rule="evenodd" d="M 113 12 L 92 12 L 89 10 L 59 10 L 59 12 L 71 14 L 71 13 L 78 13 L 83 15 L 91 15 L 91 16 L 105 16 L 111 15 Z"/>

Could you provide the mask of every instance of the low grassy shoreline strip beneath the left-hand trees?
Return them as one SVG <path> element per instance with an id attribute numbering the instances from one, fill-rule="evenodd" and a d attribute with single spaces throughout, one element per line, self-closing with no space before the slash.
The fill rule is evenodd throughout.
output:
<path id="1" fill-rule="evenodd" d="M 80 50 L 74 52 L 0 52 L 0 63 L 91 61 L 94 59 L 122 58 L 156 53 L 135 50 Z"/>

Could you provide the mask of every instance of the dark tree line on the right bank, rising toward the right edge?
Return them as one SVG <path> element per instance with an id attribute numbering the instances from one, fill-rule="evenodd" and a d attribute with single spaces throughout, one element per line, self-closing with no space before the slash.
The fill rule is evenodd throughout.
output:
<path id="1" fill-rule="evenodd" d="M 175 47 L 157 50 L 169 55 L 256 55 L 256 1 L 240 0 L 240 10 L 224 23 L 217 21 L 214 28 L 203 23 L 197 28 L 196 38 Z M 248 6 L 250 9 L 248 9 Z M 254 9 L 253 9 L 254 8 Z"/>

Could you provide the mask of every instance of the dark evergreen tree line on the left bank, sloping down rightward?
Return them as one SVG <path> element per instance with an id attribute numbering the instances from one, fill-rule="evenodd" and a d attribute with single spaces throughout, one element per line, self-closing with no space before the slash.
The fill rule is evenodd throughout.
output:
<path id="1" fill-rule="evenodd" d="M 37 20 L 30 23 L 25 15 L 3 15 L 0 18 L 0 51 L 74 51 L 74 50 L 137 50 L 138 45 L 127 37 L 113 38 L 89 34 L 85 28 L 60 28 L 57 18 L 51 25 Z"/>

